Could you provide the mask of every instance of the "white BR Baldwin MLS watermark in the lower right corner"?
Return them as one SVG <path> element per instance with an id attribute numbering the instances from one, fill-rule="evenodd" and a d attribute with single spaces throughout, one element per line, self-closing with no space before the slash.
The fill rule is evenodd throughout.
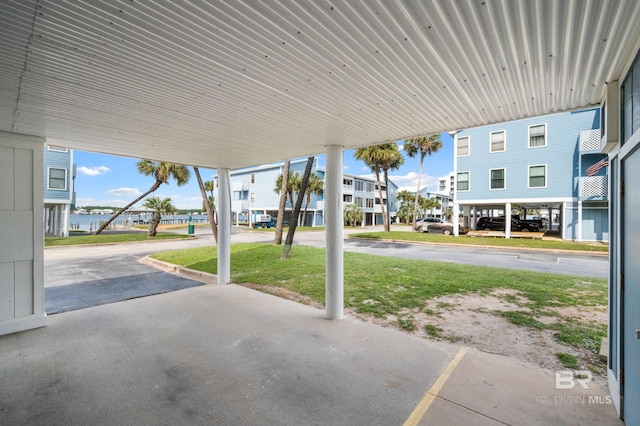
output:
<path id="1" fill-rule="evenodd" d="M 590 390 L 589 383 L 593 380 L 593 373 L 589 370 L 559 370 L 555 374 L 555 388 L 560 391 L 584 391 Z M 584 393 L 584 392 L 582 392 Z M 569 405 L 569 404 L 611 404 L 613 403 L 609 395 L 538 395 L 536 403 L 546 405 Z"/>

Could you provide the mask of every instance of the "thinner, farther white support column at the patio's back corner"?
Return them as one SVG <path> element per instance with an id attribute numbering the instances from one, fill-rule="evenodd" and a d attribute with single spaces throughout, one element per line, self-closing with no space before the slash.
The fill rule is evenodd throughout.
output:
<path id="1" fill-rule="evenodd" d="M 229 169 L 218 169 L 218 284 L 231 282 L 231 187 Z"/>

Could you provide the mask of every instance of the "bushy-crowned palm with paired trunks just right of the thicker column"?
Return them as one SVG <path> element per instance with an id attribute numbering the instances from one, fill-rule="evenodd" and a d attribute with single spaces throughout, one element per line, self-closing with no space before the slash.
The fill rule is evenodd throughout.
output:
<path id="1" fill-rule="evenodd" d="M 384 181 L 387 190 L 387 199 L 389 199 L 389 170 L 398 169 L 404 162 L 402 154 L 398 150 L 398 145 L 393 142 L 382 145 L 368 146 L 356 149 L 354 156 L 357 160 L 362 160 L 371 168 L 376 175 L 376 184 L 378 187 L 378 195 L 380 196 L 380 208 L 382 211 L 382 223 L 384 231 L 389 232 L 388 209 L 385 209 L 384 198 L 382 198 L 382 183 L 380 181 L 380 172 L 384 173 Z"/>

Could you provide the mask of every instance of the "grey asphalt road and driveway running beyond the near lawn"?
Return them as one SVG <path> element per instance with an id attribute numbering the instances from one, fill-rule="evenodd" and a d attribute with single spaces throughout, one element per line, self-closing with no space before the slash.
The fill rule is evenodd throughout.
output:
<path id="1" fill-rule="evenodd" d="M 45 307 L 49 314 L 82 309 L 201 285 L 157 271 L 138 259 L 151 253 L 213 245 L 211 231 L 196 228 L 198 239 L 101 246 L 56 247 L 45 250 Z M 271 232 L 234 231 L 232 243 L 273 240 Z M 324 232 L 299 232 L 296 244 L 322 248 Z M 565 252 L 539 252 L 448 245 L 426 245 L 345 239 L 345 250 L 470 265 L 492 266 L 606 278 L 607 257 Z"/>

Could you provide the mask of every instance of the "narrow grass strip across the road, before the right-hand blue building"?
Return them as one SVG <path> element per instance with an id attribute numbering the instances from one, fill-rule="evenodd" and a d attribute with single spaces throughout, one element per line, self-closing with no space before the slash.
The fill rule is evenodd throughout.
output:
<path id="1" fill-rule="evenodd" d="M 604 243 L 575 243 L 563 240 L 533 240 L 525 238 L 487 238 L 487 237 L 459 237 L 423 232 L 361 232 L 349 235 L 351 238 L 367 238 L 372 240 L 413 241 L 426 243 L 465 244 L 474 246 L 519 247 L 547 250 L 576 250 L 607 253 L 609 246 Z"/>

